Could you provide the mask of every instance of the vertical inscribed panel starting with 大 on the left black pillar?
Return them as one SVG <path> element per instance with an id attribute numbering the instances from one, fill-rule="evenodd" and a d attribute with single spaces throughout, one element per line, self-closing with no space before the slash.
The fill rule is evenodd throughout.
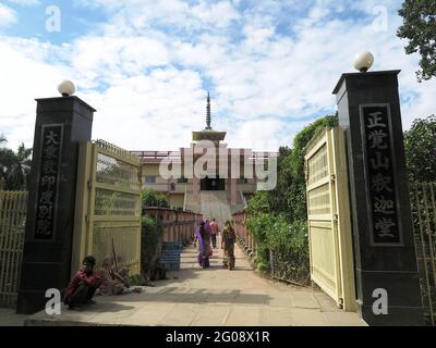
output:
<path id="1" fill-rule="evenodd" d="M 37 182 L 35 239 L 53 239 L 62 153 L 63 125 L 43 126 L 40 173 Z"/>

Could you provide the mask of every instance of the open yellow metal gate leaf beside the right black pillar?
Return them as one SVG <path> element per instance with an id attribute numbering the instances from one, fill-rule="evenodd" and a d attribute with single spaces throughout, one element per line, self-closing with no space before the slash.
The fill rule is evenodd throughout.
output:
<path id="1" fill-rule="evenodd" d="M 324 130 L 306 148 L 311 277 L 339 307 L 355 311 L 344 134 Z"/>

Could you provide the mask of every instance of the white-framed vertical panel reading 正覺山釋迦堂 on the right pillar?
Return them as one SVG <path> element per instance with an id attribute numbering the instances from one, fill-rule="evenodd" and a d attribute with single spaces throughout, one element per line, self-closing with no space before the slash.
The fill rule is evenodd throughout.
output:
<path id="1" fill-rule="evenodd" d="M 371 245 L 402 246 L 389 104 L 360 105 Z"/>

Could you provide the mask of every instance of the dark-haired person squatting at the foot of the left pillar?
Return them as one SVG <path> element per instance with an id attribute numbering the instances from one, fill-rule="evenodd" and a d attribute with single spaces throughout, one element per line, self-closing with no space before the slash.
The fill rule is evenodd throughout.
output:
<path id="1" fill-rule="evenodd" d="M 82 266 L 71 279 L 63 298 L 63 302 L 70 309 L 95 303 L 93 296 L 102 282 L 101 277 L 94 272 L 95 264 L 94 257 L 86 257 Z"/>

